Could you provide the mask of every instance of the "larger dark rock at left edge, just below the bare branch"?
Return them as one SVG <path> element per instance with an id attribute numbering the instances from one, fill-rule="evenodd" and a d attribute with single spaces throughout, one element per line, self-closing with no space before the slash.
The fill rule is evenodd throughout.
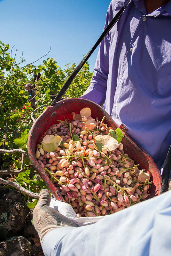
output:
<path id="1" fill-rule="evenodd" d="M 19 235 L 26 226 L 29 213 L 24 195 L 18 191 L 0 187 L 0 234 L 1 241 Z"/>

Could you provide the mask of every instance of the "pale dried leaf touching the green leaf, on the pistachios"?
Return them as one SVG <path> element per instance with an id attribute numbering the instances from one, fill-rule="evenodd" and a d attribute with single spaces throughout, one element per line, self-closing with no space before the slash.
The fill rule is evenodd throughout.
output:
<path id="1" fill-rule="evenodd" d="M 110 135 L 99 134 L 96 136 L 96 142 L 103 144 L 104 148 L 108 148 L 110 151 L 119 147 L 119 143 Z"/>

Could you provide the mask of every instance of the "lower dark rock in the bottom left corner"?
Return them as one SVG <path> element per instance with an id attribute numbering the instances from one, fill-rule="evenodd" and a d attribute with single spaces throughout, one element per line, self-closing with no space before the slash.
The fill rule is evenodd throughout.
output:
<path id="1" fill-rule="evenodd" d="M 37 247 L 23 236 L 12 236 L 0 243 L 0 256 L 31 256 L 37 252 Z"/>

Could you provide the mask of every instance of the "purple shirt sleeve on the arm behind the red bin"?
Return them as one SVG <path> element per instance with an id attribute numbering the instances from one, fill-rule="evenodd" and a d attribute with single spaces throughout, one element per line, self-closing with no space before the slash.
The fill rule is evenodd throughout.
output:
<path id="1" fill-rule="evenodd" d="M 111 2 L 106 14 L 105 28 L 112 19 L 113 10 Z M 107 79 L 109 73 L 109 46 L 110 40 L 108 35 L 106 35 L 100 43 L 94 73 L 90 81 L 90 86 L 81 96 L 81 98 L 91 100 L 99 105 L 103 105 L 106 97 Z"/>

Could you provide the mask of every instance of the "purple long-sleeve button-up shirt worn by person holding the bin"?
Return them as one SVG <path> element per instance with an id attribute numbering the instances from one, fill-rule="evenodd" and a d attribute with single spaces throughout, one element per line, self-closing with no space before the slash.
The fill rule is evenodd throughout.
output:
<path id="1" fill-rule="evenodd" d="M 105 27 L 127 1 L 111 2 Z M 160 169 L 171 144 L 171 1 L 147 14 L 144 1 L 132 0 L 101 42 L 94 70 L 81 98 L 105 103 Z"/>

